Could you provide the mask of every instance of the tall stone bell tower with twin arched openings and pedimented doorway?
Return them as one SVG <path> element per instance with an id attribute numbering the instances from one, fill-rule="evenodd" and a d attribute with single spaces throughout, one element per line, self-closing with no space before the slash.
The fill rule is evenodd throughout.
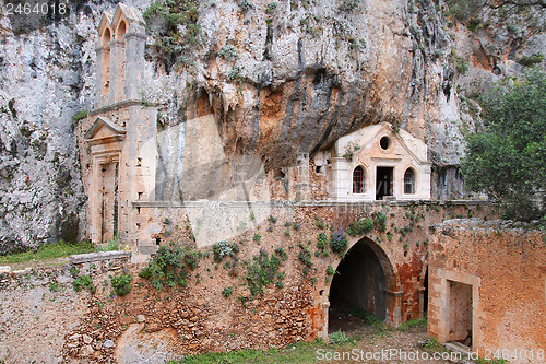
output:
<path id="1" fill-rule="evenodd" d="M 134 201 L 154 200 L 157 109 L 143 103 L 145 22 L 119 3 L 104 12 L 96 47 L 96 98 L 84 142 L 91 150 L 86 178 L 87 225 L 95 244 L 117 236 L 132 247 L 155 245 L 142 230 Z"/>

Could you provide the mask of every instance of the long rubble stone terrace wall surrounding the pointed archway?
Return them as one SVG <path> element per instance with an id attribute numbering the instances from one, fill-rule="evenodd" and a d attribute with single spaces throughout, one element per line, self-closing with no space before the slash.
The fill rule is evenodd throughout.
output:
<path id="1" fill-rule="evenodd" d="M 153 208 L 141 209 L 146 213 L 144 210 Z M 141 363 L 152 355 L 167 360 L 203 351 L 282 347 L 297 340 L 313 340 L 328 332 L 327 267 L 335 268 L 341 260 L 330 248 L 327 257 L 317 256 L 317 236 L 322 232 L 330 235 L 331 230 L 346 230 L 348 222 L 377 211 L 387 214 L 387 230 L 375 230 L 366 237 L 384 253 L 393 267 L 401 292 L 396 319 L 419 317 L 423 313 L 419 289 L 431 238 L 428 226 L 448 216 L 485 216 L 487 210 L 464 203 L 277 207 L 271 211 L 275 223 L 265 221 L 229 240 L 239 246 L 234 258 L 226 257 L 217 263 L 210 246 L 199 249 L 202 254 L 199 267 L 190 271 L 182 292 L 177 286 L 155 290 L 149 280 L 138 277 L 145 263 L 131 263 L 129 258 L 8 273 L 2 275 L 0 286 L 0 360 L 112 363 L 123 359 Z M 162 227 L 162 245 L 194 245 L 183 209 L 159 211 L 162 221 L 169 218 Z M 324 223 L 324 228 L 318 226 L 318 220 Z M 288 222 L 290 226 L 285 225 Z M 165 234 L 167 231 L 169 234 Z M 257 234 L 259 242 L 254 239 Z M 348 236 L 349 247 L 361 238 Z M 298 257 L 300 243 L 311 253 L 310 268 Z M 280 268 L 285 275 L 283 287 L 271 284 L 263 295 L 252 297 L 246 285 L 244 261 L 252 263 L 261 249 L 271 254 L 276 248 L 283 248 L 288 257 Z M 79 270 L 80 277 L 90 274 L 95 294 L 85 289 L 74 292 L 72 268 Z M 109 277 L 122 271 L 132 274 L 132 290 L 119 297 L 111 294 Z M 228 297 L 222 294 L 226 287 L 233 290 Z M 241 297 L 249 297 L 246 305 Z"/>

